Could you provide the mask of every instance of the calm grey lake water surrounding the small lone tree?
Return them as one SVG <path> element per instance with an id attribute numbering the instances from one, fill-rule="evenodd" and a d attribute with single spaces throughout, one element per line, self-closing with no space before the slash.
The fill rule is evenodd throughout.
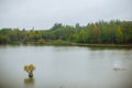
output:
<path id="1" fill-rule="evenodd" d="M 132 88 L 132 48 L 1 45 L 0 88 Z"/>

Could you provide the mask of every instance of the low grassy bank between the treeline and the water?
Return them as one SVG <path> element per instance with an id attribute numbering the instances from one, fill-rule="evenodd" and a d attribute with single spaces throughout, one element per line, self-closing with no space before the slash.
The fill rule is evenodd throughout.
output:
<path id="1" fill-rule="evenodd" d="M 63 45 L 63 46 L 88 46 L 88 47 L 132 47 L 132 44 L 82 44 L 67 41 L 46 41 L 46 42 L 14 42 L 13 45 Z"/>

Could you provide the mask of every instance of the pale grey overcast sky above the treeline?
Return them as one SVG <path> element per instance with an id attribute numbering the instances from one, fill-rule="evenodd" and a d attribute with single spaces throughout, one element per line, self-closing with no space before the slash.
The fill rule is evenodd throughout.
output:
<path id="1" fill-rule="evenodd" d="M 132 0 L 0 0 L 0 28 L 50 29 L 116 19 L 132 21 Z"/>

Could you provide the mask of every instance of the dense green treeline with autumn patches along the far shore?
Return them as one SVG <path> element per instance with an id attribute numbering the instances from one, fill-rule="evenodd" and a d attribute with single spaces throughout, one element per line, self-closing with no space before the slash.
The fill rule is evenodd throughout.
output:
<path id="1" fill-rule="evenodd" d="M 73 43 L 88 44 L 131 44 L 132 22 L 131 21 L 99 21 L 80 26 L 63 25 L 55 23 L 50 30 L 19 30 L 1 29 L 0 44 L 14 42 L 38 42 L 67 41 Z"/>

